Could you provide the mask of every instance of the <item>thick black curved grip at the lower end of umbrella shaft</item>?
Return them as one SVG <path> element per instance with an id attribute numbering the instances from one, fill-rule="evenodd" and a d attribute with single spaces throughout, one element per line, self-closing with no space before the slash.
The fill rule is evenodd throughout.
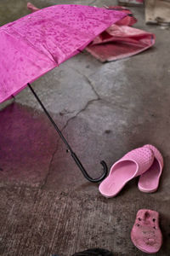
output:
<path id="1" fill-rule="evenodd" d="M 91 183 L 99 183 L 102 180 L 104 180 L 104 178 L 107 176 L 108 168 L 107 168 L 107 165 L 106 165 L 105 161 L 102 160 L 100 162 L 100 164 L 103 166 L 103 169 L 104 169 L 103 174 L 100 177 L 98 177 L 98 178 L 93 178 L 93 177 L 90 177 L 88 175 L 88 172 L 86 172 L 86 170 L 82 166 L 81 161 L 77 158 L 77 154 L 75 154 L 74 152 L 71 151 L 71 156 L 75 160 L 75 162 L 77 163 L 77 166 L 81 170 L 83 176 L 86 177 L 88 179 L 88 181 L 90 181 Z"/>

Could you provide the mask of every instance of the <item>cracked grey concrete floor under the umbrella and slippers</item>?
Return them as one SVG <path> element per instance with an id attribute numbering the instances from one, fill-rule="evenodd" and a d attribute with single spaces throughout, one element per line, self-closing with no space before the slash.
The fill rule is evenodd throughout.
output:
<path id="1" fill-rule="evenodd" d="M 106 3 L 107 2 L 107 3 Z M 96 6 L 116 1 L 32 0 Z M 144 9 L 133 8 L 137 27 L 156 34 L 142 54 L 102 64 L 84 52 L 33 83 L 90 175 L 102 172 L 145 143 L 164 156 L 161 184 L 154 194 L 133 179 L 112 199 L 88 183 L 42 113 L 29 88 L 0 112 L 0 255 L 71 256 L 89 247 L 114 255 L 140 256 L 130 240 L 136 212 L 160 212 L 163 246 L 170 255 L 170 33 L 145 26 Z M 28 14 L 25 0 L 1 0 L 0 25 Z M 11 103 L 11 104 L 9 104 Z"/>

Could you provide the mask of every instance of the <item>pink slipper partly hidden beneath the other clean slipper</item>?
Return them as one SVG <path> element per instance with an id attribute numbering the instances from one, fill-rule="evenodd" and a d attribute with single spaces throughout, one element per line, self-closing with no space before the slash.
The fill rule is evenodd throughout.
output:
<path id="1" fill-rule="evenodd" d="M 154 153 L 154 162 L 147 172 L 139 177 L 139 190 L 145 193 L 152 193 L 158 189 L 159 180 L 163 168 L 163 158 L 159 150 L 152 145 L 145 145 L 144 148 L 150 148 Z"/>

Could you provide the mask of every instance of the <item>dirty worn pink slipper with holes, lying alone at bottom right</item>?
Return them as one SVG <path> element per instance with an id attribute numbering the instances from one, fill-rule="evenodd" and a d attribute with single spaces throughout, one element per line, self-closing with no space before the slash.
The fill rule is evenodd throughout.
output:
<path id="1" fill-rule="evenodd" d="M 159 213 L 146 209 L 139 210 L 131 231 L 131 240 L 142 252 L 157 253 L 162 244 Z"/>

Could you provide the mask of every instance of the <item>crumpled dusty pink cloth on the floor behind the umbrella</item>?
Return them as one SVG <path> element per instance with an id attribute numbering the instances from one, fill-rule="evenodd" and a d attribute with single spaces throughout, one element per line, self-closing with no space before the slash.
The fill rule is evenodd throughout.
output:
<path id="1" fill-rule="evenodd" d="M 117 7 L 110 9 L 117 9 Z M 132 14 L 120 6 L 119 9 L 129 15 Z M 87 51 L 99 61 L 116 61 L 139 54 L 155 44 L 155 35 L 132 27 L 136 20 L 129 15 L 95 38 L 86 48 Z"/>

